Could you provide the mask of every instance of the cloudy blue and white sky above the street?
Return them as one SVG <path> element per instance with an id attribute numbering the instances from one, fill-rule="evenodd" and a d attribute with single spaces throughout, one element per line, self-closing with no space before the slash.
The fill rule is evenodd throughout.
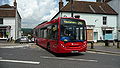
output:
<path id="1" fill-rule="evenodd" d="M 0 5 L 10 4 L 14 0 L 0 0 Z M 22 28 L 34 28 L 43 21 L 49 21 L 59 11 L 59 0 L 17 0 L 18 12 L 22 17 Z M 95 0 L 81 0 L 95 1 Z M 63 0 L 64 5 L 66 0 Z"/>

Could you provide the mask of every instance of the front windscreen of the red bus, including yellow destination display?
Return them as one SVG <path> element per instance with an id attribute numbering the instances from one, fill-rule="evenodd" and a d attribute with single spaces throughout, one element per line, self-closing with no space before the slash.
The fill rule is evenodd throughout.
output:
<path id="1" fill-rule="evenodd" d="M 60 40 L 64 42 L 81 42 L 85 39 L 85 24 L 79 19 L 62 19 Z"/>

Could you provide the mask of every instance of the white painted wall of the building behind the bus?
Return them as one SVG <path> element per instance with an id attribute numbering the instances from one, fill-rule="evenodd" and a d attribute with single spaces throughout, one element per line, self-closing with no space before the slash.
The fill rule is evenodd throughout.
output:
<path id="1" fill-rule="evenodd" d="M 105 40 L 103 39 L 103 30 L 102 27 L 112 27 L 113 29 L 107 29 L 112 31 L 112 39 L 109 40 L 114 40 L 117 39 L 117 15 L 104 15 L 104 14 L 89 14 L 89 13 L 74 13 L 73 16 L 75 15 L 80 15 L 80 19 L 83 19 L 86 21 L 86 25 L 94 25 L 95 27 L 92 27 L 93 29 L 93 35 L 94 32 L 97 32 L 97 39 L 96 40 Z M 107 24 L 103 25 L 103 16 L 107 17 Z M 71 13 L 69 12 L 60 12 L 58 13 L 55 18 L 58 17 L 71 17 Z M 94 36 L 93 36 L 94 37 Z M 101 38 L 102 39 L 101 39 Z"/>

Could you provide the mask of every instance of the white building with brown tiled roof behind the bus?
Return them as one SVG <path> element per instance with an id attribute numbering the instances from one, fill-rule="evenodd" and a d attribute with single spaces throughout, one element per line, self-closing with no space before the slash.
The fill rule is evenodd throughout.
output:
<path id="1" fill-rule="evenodd" d="M 118 14 L 107 3 L 74 1 L 63 6 L 60 0 L 59 12 L 52 19 L 72 15 L 80 15 L 86 21 L 88 41 L 117 39 Z"/>

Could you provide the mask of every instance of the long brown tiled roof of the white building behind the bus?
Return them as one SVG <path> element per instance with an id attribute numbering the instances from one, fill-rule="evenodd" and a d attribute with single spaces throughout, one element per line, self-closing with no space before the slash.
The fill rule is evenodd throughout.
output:
<path id="1" fill-rule="evenodd" d="M 60 11 L 70 12 L 71 3 L 69 2 Z M 94 13 L 94 14 L 117 14 L 107 3 L 74 1 L 73 12 Z"/>

